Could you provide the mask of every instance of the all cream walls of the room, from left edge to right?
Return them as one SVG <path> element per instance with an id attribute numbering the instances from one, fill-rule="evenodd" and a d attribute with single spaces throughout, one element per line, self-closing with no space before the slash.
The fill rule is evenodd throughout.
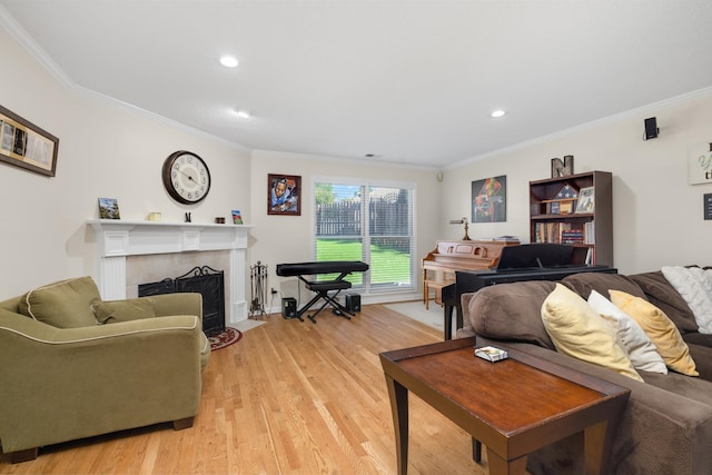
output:
<path id="1" fill-rule="evenodd" d="M 507 176 L 507 221 L 473 224 L 471 236 L 518 235 L 526 240 L 528 181 L 550 176 L 550 159 L 575 156 L 575 170 L 614 176 L 614 259 L 624 273 L 665 264 L 712 264 L 712 221 L 702 219 L 702 195 L 712 185 L 688 185 L 688 147 L 712 141 L 712 93 L 659 105 L 595 127 L 560 133 L 445 170 L 345 162 L 329 157 L 254 151 L 70 87 L 49 73 L 0 29 L 0 103 L 60 138 L 57 177 L 0 164 L 0 299 L 51 280 L 96 275 L 93 235 L 97 198 L 119 200 L 123 219 L 161 211 L 164 220 L 229 219 L 240 209 L 251 230 L 249 264 L 269 266 L 312 258 L 310 191 L 300 217 L 268 216 L 267 174 L 364 177 L 417 184 L 417 255 L 437 239 L 461 239 L 449 219 L 469 216 L 471 181 Z M 643 119 L 656 116 L 657 139 L 643 141 Z M 178 205 L 162 188 L 164 159 L 179 149 L 200 155 L 212 174 L 210 195 L 197 206 Z M 249 295 L 249 288 L 247 289 Z"/>

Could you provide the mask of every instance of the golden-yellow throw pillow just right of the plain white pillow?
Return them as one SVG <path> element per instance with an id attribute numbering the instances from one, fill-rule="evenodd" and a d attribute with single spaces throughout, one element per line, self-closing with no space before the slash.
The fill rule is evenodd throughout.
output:
<path id="1" fill-rule="evenodd" d="M 670 369 L 700 376 L 680 330 L 660 308 L 624 291 L 609 290 L 609 294 L 611 301 L 643 328 Z"/>

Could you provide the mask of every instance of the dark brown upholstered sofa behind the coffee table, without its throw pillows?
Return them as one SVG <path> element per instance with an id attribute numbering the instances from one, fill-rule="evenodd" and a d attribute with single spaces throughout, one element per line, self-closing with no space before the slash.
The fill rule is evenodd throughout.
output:
<path id="1" fill-rule="evenodd" d="M 685 300 L 661 271 L 623 276 L 576 274 L 570 289 L 589 297 L 609 289 L 641 297 L 675 324 L 689 346 L 699 377 L 639 370 L 644 383 L 557 353 L 542 321 L 541 308 L 553 281 L 486 287 L 462 298 L 464 327 L 457 337 L 477 336 L 477 345 L 504 343 L 521 352 L 591 374 L 631 389 L 613 447 L 613 473 L 621 475 L 712 474 L 712 335 L 698 331 Z M 530 455 L 533 474 L 583 473 L 583 436 L 577 434 Z"/>

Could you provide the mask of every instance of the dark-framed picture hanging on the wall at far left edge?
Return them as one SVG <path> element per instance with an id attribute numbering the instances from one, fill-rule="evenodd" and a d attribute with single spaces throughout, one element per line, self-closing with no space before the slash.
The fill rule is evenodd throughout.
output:
<path id="1" fill-rule="evenodd" d="M 0 106 L 0 161 L 53 177 L 59 139 Z"/>

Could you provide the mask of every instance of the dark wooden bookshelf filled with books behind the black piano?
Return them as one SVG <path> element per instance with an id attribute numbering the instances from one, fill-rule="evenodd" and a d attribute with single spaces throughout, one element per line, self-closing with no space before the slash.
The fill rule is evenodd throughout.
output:
<path id="1" fill-rule="evenodd" d="M 613 266 L 611 172 L 530 181 L 530 241 L 570 244 L 587 263 Z"/>

